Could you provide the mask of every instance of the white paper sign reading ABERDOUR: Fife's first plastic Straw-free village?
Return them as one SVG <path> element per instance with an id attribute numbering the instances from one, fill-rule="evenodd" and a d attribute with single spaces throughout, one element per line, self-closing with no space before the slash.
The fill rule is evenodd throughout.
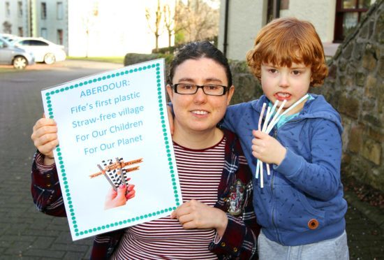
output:
<path id="1" fill-rule="evenodd" d="M 170 215 L 182 203 L 164 82 L 164 59 L 156 59 L 42 91 L 45 115 L 57 122 L 54 157 L 73 240 Z M 105 209 L 123 175 L 135 197 Z"/>

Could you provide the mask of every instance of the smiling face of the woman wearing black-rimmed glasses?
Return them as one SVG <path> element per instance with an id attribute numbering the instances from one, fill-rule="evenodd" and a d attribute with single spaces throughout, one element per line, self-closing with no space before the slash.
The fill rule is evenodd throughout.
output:
<path id="1" fill-rule="evenodd" d="M 172 84 L 190 83 L 195 85 L 228 85 L 226 71 L 213 59 L 187 59 L 175 68 Z M 199 132 L 213 131 L 226 113 L 234 87 L 227 89 L 223 96 L 208 96 L 199 88 L 195 94 L 177 94 L 168 85 L 167 91 L 175 113 L 175 130 Z"/>

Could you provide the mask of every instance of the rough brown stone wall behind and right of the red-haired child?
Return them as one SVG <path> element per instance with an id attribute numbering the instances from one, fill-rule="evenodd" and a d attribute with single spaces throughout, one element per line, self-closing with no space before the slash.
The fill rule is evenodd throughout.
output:
<path id="1" fill-rule="evenodd" d="M 369 9 L 329 63 L 330 75 L 311 92 L 323 94 L 341 114 L 342 173 L 384 191 L 384 0 Z M 257 99 L 260 83 L 244 62 L 231 62 L 232 103 Z"/>

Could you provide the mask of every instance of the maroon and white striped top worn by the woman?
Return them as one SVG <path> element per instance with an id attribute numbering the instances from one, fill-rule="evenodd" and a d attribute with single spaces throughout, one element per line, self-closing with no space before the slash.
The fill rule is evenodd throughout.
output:
<path id="1" fill-rule="evenodd" d="M 223 173 L 226 138 L 205 150 L 174 143 L 183 202 L 195 199 L 214 206 Z M 163 217 L 126 229 L 112 259 L 217 259 L 209 251 L 214 229 L 183 229 L 177 219 Z"/>

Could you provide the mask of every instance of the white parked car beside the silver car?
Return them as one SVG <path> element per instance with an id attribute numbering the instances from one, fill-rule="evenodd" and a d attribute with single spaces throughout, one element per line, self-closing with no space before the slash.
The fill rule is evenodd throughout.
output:
<path id="1" fill-rule="evenodd" d="M 13 41 L 16 46 L 32 52 L 36 62 L 54 64 L 66 59 L 63 45 L 57 45 L 44 38 L 22 37 Z"/>

